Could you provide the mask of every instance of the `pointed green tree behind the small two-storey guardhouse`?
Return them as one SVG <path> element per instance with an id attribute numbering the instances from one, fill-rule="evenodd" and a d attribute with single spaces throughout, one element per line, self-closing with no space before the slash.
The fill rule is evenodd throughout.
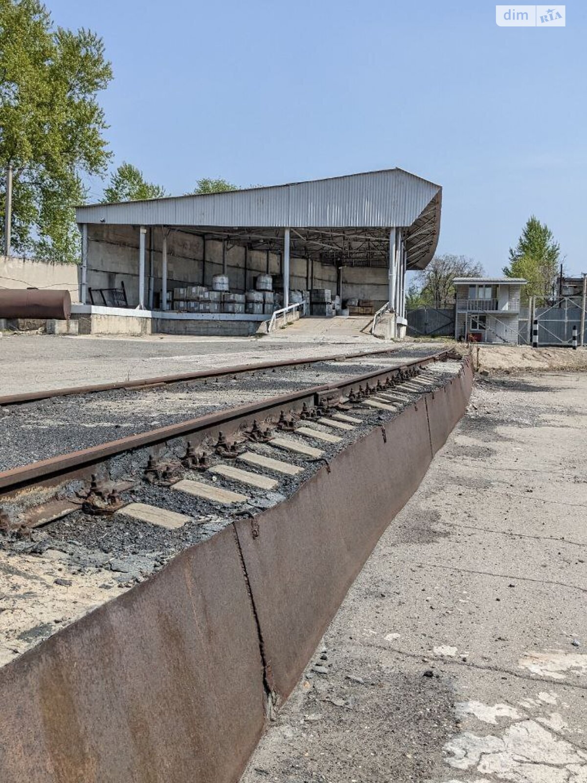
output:
<path id="1" fill-rule="evenodd" d="M 552 231 L 535 215 L 528 218 L 516 247 L 510 247 L 510 265 L 503 273 L 528 280 L 524 296 L 549 298 L 553 295 L 560 264 L 560 245 Z"/>

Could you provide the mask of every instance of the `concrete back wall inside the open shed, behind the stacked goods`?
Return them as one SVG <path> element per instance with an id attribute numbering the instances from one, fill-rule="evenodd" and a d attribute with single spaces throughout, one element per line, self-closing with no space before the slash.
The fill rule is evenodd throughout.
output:
<path id="1" fill-rule="evenodd" d="M 149 304 L 149 263 L 153 247 L 153 291 L 155 307 L 161 290 L 161 244 L 163 229 L 147 229 L 145 304 Z M 206 241 L 206 264 L 203 264 L 203 237 L 171 230 L 167 237 L 167 290 L 187 285 L 211 287 L 212 277 L 222 272 L 222 243 Z M 228 246 L 227 266 L 230 287 L 243 292 L 254 287 L 259 274 L 269 272 L 279 276 L 283 261 L 279 253 L 247 251 L 241 246 Z M 387 269 L 344 267 L 343 298 L 372 299 L 376 307 L 387 301 Z M 88 287 L 120 288 L 127 291 L 128 303 L 139 303 L 139 228 L 138 226 L 88 226 Z M 308 262 L 306 258 L 290 258 L 290 289 L 308 287 L 337 290 L 337 269 L 333 265 Z M 88 299 L 89 301 L 89 299 Z M 103 304 L 102 301 L 95 301 Z"/>

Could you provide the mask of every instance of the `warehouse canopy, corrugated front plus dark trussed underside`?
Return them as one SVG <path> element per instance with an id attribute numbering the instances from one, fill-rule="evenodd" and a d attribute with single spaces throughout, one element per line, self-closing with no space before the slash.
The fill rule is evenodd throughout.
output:
<path id="1" fill-rule="evenodd" d="M 387 267 L 401 229 L 405 269 L 424 269 L 438 244 L 441 187 L 401 168 L 228 193 L 77 207 L 77 223 L 168 226 L 253 250 L 337 265 Z"/>

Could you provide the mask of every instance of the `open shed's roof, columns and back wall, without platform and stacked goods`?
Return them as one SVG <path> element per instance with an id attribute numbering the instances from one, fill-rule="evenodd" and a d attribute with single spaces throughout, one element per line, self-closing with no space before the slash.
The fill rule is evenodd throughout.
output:
<path id="1" fill-rule="evenodd" d="M 205 283 L 212 272 L 231 274 L 232 267 L 231 282 L 246 290 L 250 275 L 276 272 L 283 276 L 284 305 L 290 287 L 338 282 L 341 269 L 363 269 L 363 275 L 351 275 L 347 296 L 355 291 L 360 296 L 373 283 L 378 287 L 373 301 L 387 299 L 391 312 L 402 319 L 405 271 L 424 269 L 432 258 L 440 214 L 441 187 L 399 168 L 81 206 L 81 301 L 88 301 L 92 281 L 112 283 L 118 272 L 136 280 L 135 288 L 127 285 L 129 305 L 153 309 L 153 297 L 160 294 L 160 309 L 165 309 L 172 256 L 173 280 L 184 283 Z M 292 278 L 301 277 L 300 261 L 304 285 L 292 285 Z"/>

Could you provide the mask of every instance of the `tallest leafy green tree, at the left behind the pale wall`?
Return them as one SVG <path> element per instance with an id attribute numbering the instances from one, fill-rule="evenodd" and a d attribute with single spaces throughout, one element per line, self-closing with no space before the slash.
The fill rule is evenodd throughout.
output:
<path id="1" fill-rule="evenodd" d="M 111 78 L 95 33 L 53 27 L 38 0 L 0 0 L 0 190 L 12 164 L 14 253 L 78 260 L 74 206 L 110 157 L 96 96 Z"/>

